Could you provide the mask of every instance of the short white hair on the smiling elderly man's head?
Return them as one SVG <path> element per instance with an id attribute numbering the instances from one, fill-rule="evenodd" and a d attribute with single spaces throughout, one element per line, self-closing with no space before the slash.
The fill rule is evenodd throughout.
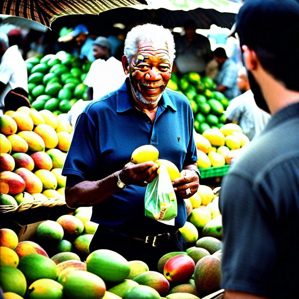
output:
<path id="1" fill-rule="evenodd" d="M 132 57 L 138 52 L 138 43 L 140 41 L 152 42 L 154 45 L 163 43 L 168 48 L 170 59 L 173 61 L 176 57 L 175 44 L 170 30 L 163 26 L 144 24 L 132 28 L 126 36 L 123 52 L 128 63 L 131 63 Z"/>

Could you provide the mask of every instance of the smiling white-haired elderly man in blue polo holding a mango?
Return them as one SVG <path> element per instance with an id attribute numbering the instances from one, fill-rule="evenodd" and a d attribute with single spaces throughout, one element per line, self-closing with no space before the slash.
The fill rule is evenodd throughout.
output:
<path id="1" fill-rule="evenodd" d="M 186 221 L 183 198 L 199 185 L 193 114 L 184 95 L 165 90 L 175 58 L 169 30 L 136 26 L 126 37 L 124 53 L 125 83 L 92 101 L 78 118 L 62 172 L 67 176 L 65 198 L 71 208 L 93 206 L 92 219 L 100 225 L 90 251 L 114 250 L 156 270 L 163 254 L 186 249 L 178 231 Z M 158 165 L 128 163 L 144 144 L 155 146 L 159 158 L 181 170 L 173 181 L 178 202 L 174 225 L 145 216 L 146 186 L 157 176 Z"/>

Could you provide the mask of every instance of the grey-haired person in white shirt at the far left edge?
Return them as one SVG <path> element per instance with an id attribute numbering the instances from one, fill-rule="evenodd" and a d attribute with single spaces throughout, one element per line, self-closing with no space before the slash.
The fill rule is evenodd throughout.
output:
<path id="1" fill-rule="evenodd" d="M 28 92 L 26 63 L 18 46 L 10 47 L 7 35 L 0 33 L 0 109 L 3 113 L 5 96 L 17 87 L 22 87 Z"/>

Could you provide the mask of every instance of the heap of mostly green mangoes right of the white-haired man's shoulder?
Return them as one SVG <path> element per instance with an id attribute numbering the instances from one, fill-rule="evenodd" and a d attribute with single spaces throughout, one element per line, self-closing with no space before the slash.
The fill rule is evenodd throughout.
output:
<path id="1" fill-rule="evenodd" d="M 223 111 L 229 102 L 221 92 L 215 90 L 216 84 L 209 77 L 201 77 L 194 72 L 184 74 L 181 78 L 171 74 L 167 87 L 183 93 L 190 101 L 197 133 L 221 128 L 225 124 Z"/>

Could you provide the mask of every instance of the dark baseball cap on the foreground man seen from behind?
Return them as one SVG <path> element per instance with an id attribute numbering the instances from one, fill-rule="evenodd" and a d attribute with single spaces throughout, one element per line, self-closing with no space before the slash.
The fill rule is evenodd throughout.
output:
<path id="1" fill-rule="evenodd" d="M 230 36 L 237 32 L 241 46 L 289 53 L 291 49 L 298 51 L 298 30 L 297 0 L 247 0 Z"/>

